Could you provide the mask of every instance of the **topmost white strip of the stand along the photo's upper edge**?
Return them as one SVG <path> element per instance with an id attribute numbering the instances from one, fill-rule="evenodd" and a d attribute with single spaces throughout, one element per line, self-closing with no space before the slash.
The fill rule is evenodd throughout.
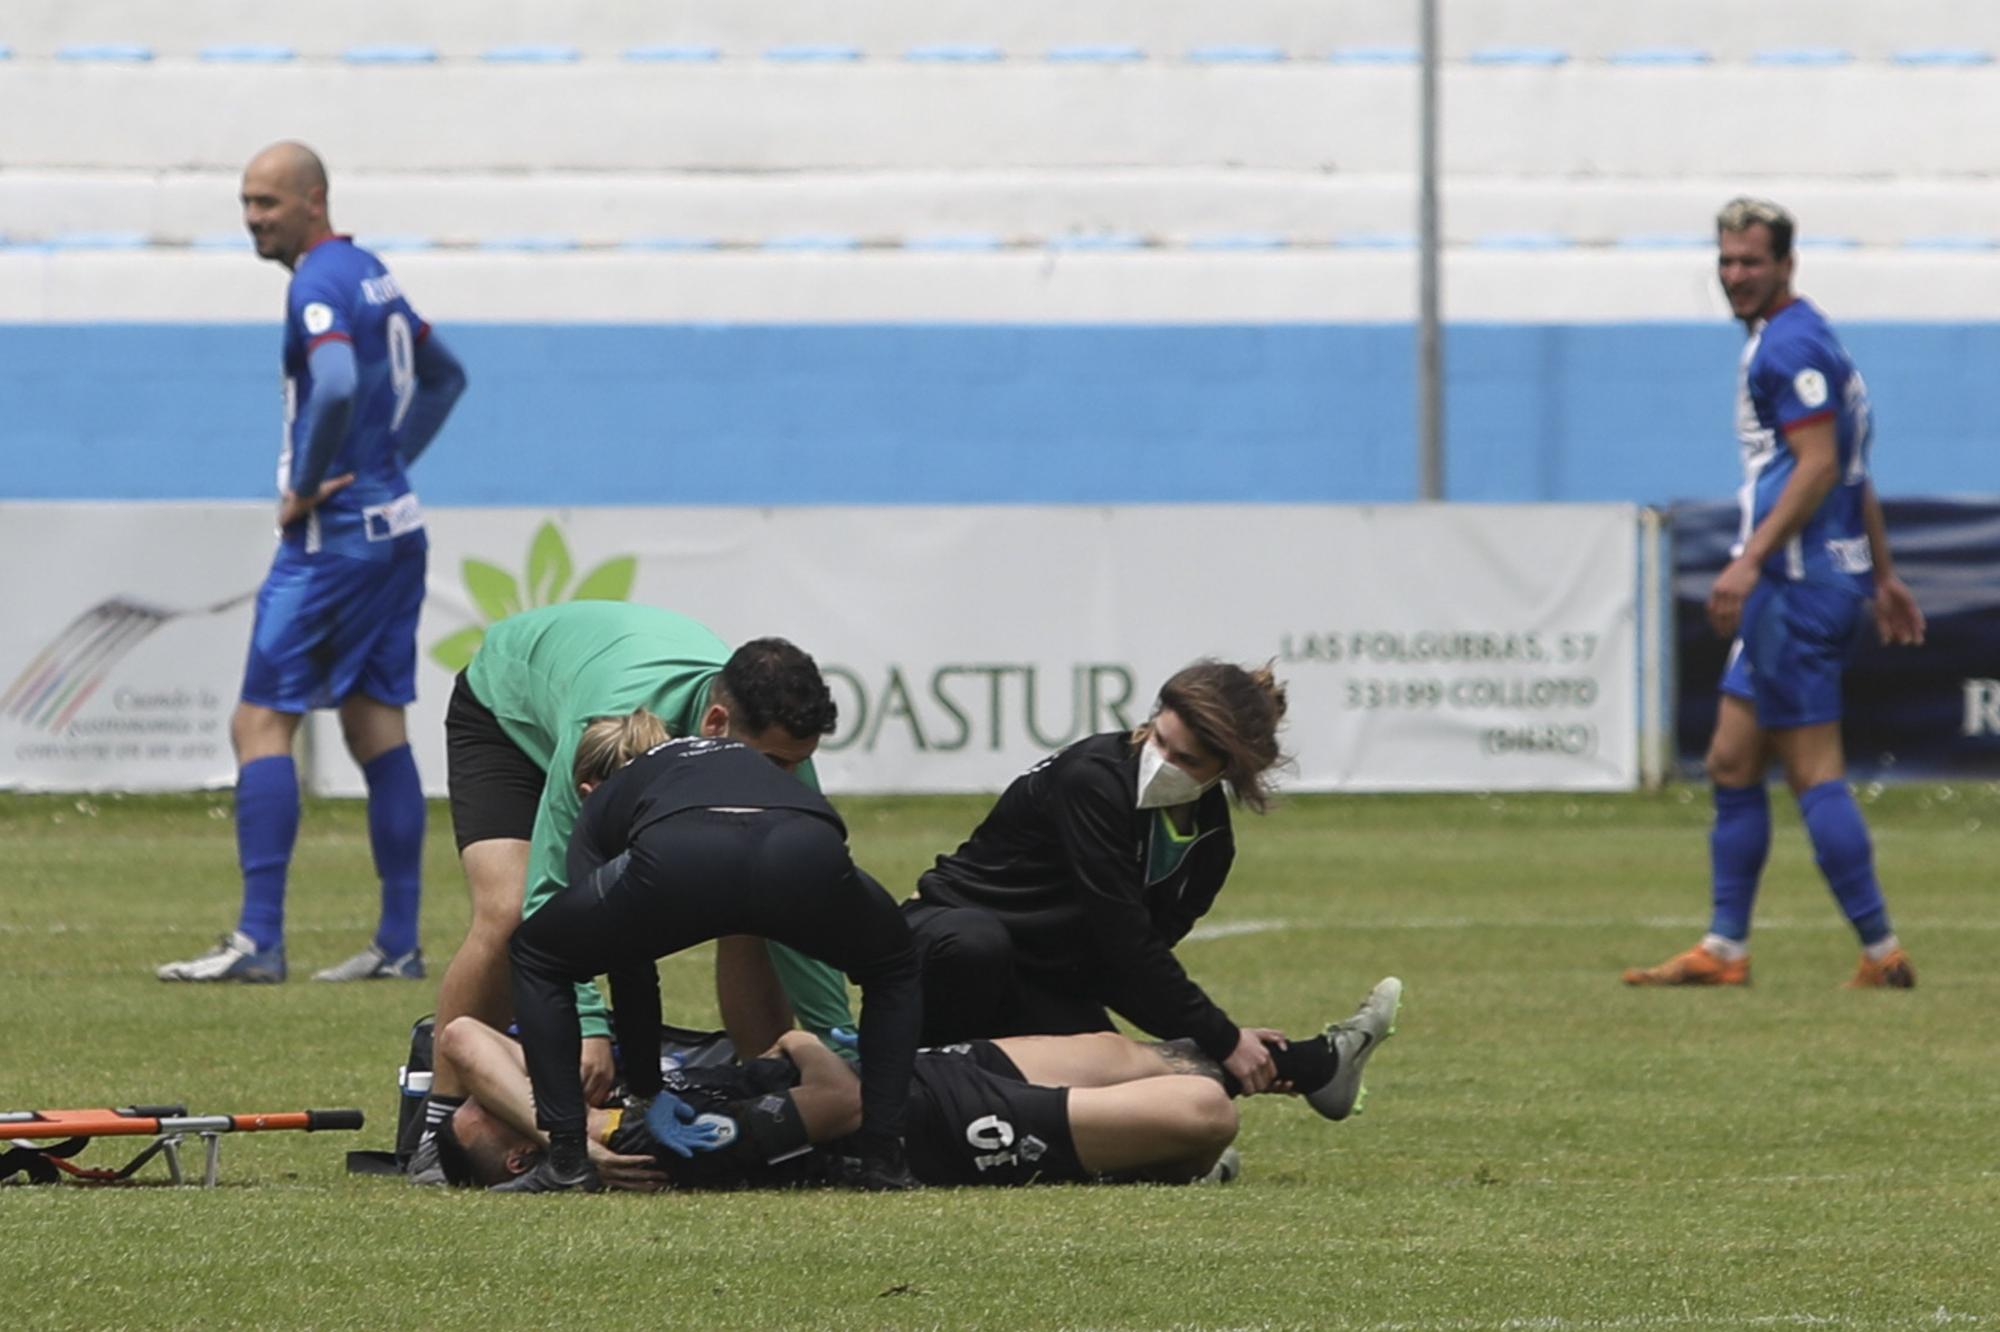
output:
<path id="1" fill-rule="evenodd" d="M 1860 58 L 1896 50 L 2000 50 L 2000 12 L 1986 0 L 1450 0 L 1442 8 L 1446 52 L 1556 48 L 1578 58 L 1614 50 L 1692 48 L 1718 60 L 1756 50 L 1822 46 Z M 1810 34 L 1810 36 L 1808 36 Z M 1136 46 L 1184 52 L 1254 44 L 1286 52 L 1396 46 L 1416 36 L 1414 4 L 1380 0 L 348 0 L 334 6 L 272 6 L 264 0 L 92 0 L 22 4 L 0 22 L 0 42 L 50 54 L 78 44 L 138 44 L 162 54 L 214 46 L 288 48 L 332 56 L 358 44 L 428 46 L 440 56 L 496 48 L 576 48 L 588 56 L 634 46 L 714 46 L 762 52 L 824 42 L 866 52 L 972 44 L 1008 52 L 1052 46 Z"/>

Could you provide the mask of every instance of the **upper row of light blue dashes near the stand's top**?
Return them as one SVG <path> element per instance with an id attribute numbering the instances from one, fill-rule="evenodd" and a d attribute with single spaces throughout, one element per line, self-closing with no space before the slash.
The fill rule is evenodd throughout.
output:
<path id="1" fill-rule="evenodd" d="M 438 64 L 440 60 L 472 58 L 486 64 L 576 64 L 586 58 L 580 46 L 560 42 L 516 42 L 508 46 L 488 46 L 480 52 L 446 52 L 420 42 L 366 42 L 346 46 L 338 52 L 300 52 L 294 46 L 276 42 L 216 42 L 192 52 L 196 60 L 210 64 L 288 64 L 294 60 L 340 60 L 346 64 Z M 0 44 L 0 60 L 28 58 Z M 156 52 L 142 42 L 70 42 L 50 52 L 50 58 L 64 62 L 108 62 L 108 64 L 148 64 L 156 58 L 182 58 L 178 52 Z M 1330 62 L 1330 64 L 1416 64 L 1418 48 L 1408 44 L 1388 46 L 1336 46 L 1332 50 L 1286 50 L 1264 42 L 1222 42 L 1210 46 L 1190 46 L 1186 50 L 1146 50 L 1134 42 L 1082 42 L 1060 44 L 1044 50 L 1006 50 L 986 42 L 924 42 L 900 50 L 864 50 L 844 42 L 786 42 L 750 52 L 724 52 L 706 42 L 648 42 L 626 46 L 616 52 L 618 60 L 646 64 L 708 64 L 718 60 L 758 58 L 778 64 L 850 64 L 860 60 L 912 60 L 944 64 L 1000 64 L 1006 60 L 1056 60 L 1074 64 L 1132 64 L 1142 60 L 1186 60 L 1192 64 L 1286 64 L 1286 62 Z M 1602 54 L 1570 52 L 1560 46 L 1476 46 L 1454 52 L 1454 62 L 1464 64 L 1526 64 L 1554 66 L 1572 60 L 1602 60 L 1614 66 L 1682 66 L 1712 64 L 1726 60 L 1700 46 L 1634 46 Z M 1856 52 L 1840 46 L 1772 46 L 1750 50 L 1742 56 L 1756 66 L 1838 66 L 1860 60 Z M 1918 66 L 1980 66 L 1994 64 L 1994 52 L 1978 46 L 1904 46 L 1880 54 L 1892 64 Z"/>

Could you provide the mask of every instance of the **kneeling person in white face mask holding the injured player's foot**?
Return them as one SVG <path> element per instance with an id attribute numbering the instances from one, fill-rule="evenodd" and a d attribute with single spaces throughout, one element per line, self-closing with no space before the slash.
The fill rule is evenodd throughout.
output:
<path id="1" fill-rule="evenodd" d="M 1238 1026 L 1174 956 L 1228 878 L 1232 798 L 1270 804 L 1282 720 L 1268 666 L 1200 660 L 1160 688 L 1144 726 L 1078 740 L 1016 778 L 904 902 L 924 958 L 924 1044 L 1100 1032 L 1118 1012 L 1192 1040 L 1246 1092 L 1330 1080 L 1338 1048 Z M 1350 1044 L 1366 1052 L 1392 1020 Z"/>

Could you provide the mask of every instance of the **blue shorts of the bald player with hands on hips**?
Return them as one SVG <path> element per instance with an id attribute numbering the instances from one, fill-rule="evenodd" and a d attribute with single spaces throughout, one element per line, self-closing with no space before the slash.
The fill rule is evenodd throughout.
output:
<path id="1" fill-rule="evenodd" d="M 388 560 L 278 546 L 256 594 L 244 702 L 274 712 L 338 708 L 352 694 L 410 704 L 428 552 L 422 532 L 398 536 Z"/>

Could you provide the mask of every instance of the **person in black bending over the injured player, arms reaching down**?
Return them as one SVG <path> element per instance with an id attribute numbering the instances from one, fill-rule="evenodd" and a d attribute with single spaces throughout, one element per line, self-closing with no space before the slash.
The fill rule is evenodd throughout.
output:
<path id="1" fill-rule="evenodd" d="M 864 1188 L 898 1186 L 902 1116 L 920 1026 L 918 960 L 894 900 L 854 868 L 846 828 L 814 790 L 734 740 L 670 740 L 584 802 L 570 886 L 514 930 L 514 1014 L 536 1124 L 550 1154 L 500 1188 L 596 1188 L 584 1148 L 578 982 L 608 976 L 624 1050 L 660 1042 L 658 958 L 726 934 L 788 944 L 862 990 Z M 650 1060 L 626 1062 L 634 1098 L 660 1092 Z"/>

